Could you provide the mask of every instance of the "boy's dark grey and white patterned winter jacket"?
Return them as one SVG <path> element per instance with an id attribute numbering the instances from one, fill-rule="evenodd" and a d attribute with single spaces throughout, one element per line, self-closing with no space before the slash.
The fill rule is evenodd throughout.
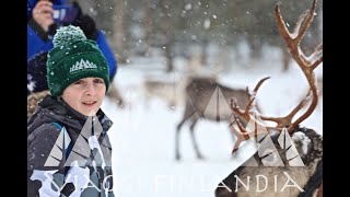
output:
<path id="1" fill-rule="evenodd" d="M 112 124 L 46 96 L 27 121 L 27 196 L 114 197 Z"/>

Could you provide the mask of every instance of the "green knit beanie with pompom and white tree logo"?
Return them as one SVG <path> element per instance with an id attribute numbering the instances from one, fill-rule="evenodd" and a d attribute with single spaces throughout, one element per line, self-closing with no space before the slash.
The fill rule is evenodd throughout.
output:
<path id="1" fill-rule="evenodd" d="M 88 77 L 102 78 L 109 88 L 107 61 L 96 42 L 88 39 L 73 25 L 57 30 L 54 48 L 47 55 L 47 84 L 52 96 L 59 96 L 71 83 Z"/>

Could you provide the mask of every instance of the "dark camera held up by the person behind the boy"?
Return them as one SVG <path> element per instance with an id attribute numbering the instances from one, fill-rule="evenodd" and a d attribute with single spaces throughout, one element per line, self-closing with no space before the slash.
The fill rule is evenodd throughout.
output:
<path id="1" fill-rule="evenodd" d="M 71 4 L 52 5 L 52 19 L 55 23 L 72 23 L 78 16 L 78 8 Z"/>

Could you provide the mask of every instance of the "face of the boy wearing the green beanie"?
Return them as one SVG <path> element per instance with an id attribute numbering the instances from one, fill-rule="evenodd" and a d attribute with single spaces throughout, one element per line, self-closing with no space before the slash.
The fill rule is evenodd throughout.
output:
<path id="1" fill-rule="evenodd" d="M 63 91 L 62 99 L 85 116 L 94 116 L 105 97 L 106 84 L 102 78 L 80 79 Z"/>

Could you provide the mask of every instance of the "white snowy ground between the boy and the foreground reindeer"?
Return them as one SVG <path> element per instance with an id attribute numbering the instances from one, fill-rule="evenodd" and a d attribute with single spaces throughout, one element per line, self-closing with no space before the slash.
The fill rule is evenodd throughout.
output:
<path id="1" fill-rule="evenodd" d="M 177 60 L 175 65 L 179 71 L 184 61 Z M 322 65 L 319 67 L 316 76 L 322 76 Z M 163 70 L 162 61 L 151 58 L 131 59 L 127 66 L 119 66 L 115 82 L 127 105 L 120 109 L 106 100 L 102 106 L 114 120 L 109 135 L 114 149 L 115 194 L 119 197 L 212 197 L 218 183 L 249 154 L 232 160 L 230 153 L 233 142 L 226 125 L 200 120 L 196 135 L 199 149 L 207 159 L 196 159 L 188 125 L 185 125 L 180 141 L 183 160 L 176 162 L 175 127 L 184 107 L 168 108 L 159 99 L 145 103 L 141 90 L 142 80 L 148 74 L 167 80 L 180 78 L 180 72 L 165 74 Z M 260 88 L 257 100 L 264 114 L 282 116 L 305 95 L 307 85 L 296 65 L 292 65 L 289 72 L 280 70 L 281 66 L 276 65 L 276 59 L 268 58 L 252 62 L 250 67 L 233 66 L 230 72 L 220 74 L 219 81 L 229 86 L 253 88 L 259 79 L 271 77 Z M 323 134 L 322 100 L 303 125 Z"/>

